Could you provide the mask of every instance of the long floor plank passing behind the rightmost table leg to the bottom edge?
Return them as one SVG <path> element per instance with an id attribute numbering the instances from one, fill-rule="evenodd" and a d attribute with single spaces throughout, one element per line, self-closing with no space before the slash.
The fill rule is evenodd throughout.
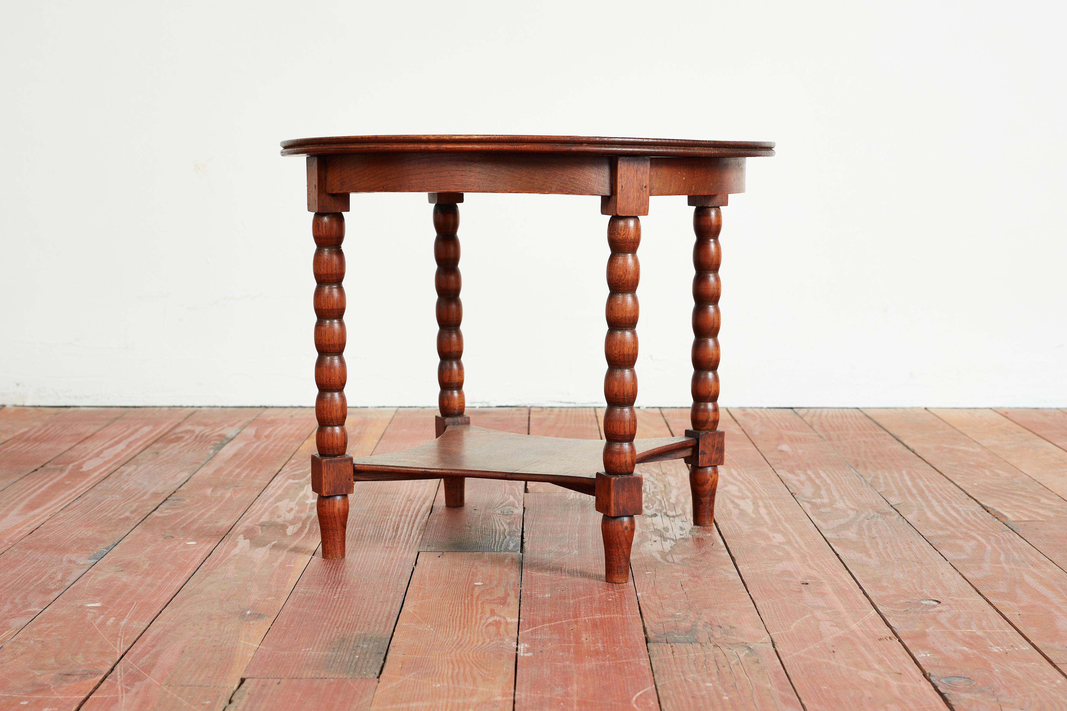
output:
<path id="1" fill-rule="evenodd" d="M 665 415 L 687 426 L 688 409 Z M 718 528 L 806 708 L 946 708 L 727 413 L 720 429 Z"/>

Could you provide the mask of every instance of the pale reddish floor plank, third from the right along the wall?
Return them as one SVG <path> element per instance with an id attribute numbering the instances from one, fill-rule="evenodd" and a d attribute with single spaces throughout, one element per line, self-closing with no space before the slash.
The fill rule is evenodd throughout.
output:
<path id="1" fill-rule="evenodd" d="M 875 422 L 1067 569 L 1067 501 L 923 409 L 864 409 Z"/>

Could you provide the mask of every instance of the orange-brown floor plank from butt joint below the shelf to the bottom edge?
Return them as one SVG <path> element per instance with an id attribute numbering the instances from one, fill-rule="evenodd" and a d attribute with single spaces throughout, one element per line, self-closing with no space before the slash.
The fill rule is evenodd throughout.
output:
<path id="1" fill-rule="evenodd" d="M 420 553 L 371 708 L 510 711 L 519 568 L 517 553 Z"/>

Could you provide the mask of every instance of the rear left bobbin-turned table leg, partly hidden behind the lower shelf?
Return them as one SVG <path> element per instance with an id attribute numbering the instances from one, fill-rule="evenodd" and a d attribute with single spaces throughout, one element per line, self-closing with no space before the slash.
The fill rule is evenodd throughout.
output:
<path id="1" fill-rule="evenodd" d="M 463 193 L 430 193 L 433 204 L 433 227 L 437 237 L 433 242 L 433 257 L 437 261 L 434 286 L 437 289 L 437 385 L 441 393 L 437 405 L 441 415 L 436 418 L 436 434 L 440 437 L 449 424 L 469 424 L 471 418 L 463 411 L 466 401 L 463 395 L 463 303 L 460 301 L 460 240 L 456 231 L 460 226 L 460 210 L 457 204 L 463 201 Z M 444 480 L 445 505 L 463 505 L 462 476 Z"/>

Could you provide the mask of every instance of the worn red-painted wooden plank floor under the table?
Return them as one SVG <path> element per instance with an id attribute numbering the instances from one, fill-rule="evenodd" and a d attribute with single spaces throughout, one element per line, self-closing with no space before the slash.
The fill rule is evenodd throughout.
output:
<path id="1" fill-rule="evenodd" d="M 433 414 L 351 409 L 350 451 Z M 545 484 L 360 483 L 323 561 L 310 409 L 0 408 L 0 709 L 1067 709 L 1067 411 L 723 420 L 717 526 L 641 465 L 610 585 L 591 498 Z"/>

